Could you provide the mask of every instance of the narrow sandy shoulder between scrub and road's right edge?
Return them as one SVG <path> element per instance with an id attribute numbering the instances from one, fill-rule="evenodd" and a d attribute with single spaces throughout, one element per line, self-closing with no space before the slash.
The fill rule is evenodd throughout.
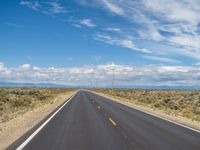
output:
<path id="1" fill-rule="evenodd" d="M 174 122 L 177 122 L 179 124 L 200 130 L 200 122 L 198 122 L 198 121 L 192 121 L 191 119 L 184 118 L 184 117 L 181 117 L 181 116 L 168 115 L 168 114 L 166 114 L 166 112 L 163 112 L 161 110 L 155 110 L 155 109 L 150 108 L 150 107 L 145 107 L 145 106 L 141 106 L 141 105 L 138 105 L 138 104 L 135 104 L 135 103 L 130 103 L 130 102 L 128 102 L 127 99 L 123 99 L 121 97 L 120 98 L 119 97 L 113 97 L 111 95 L 107 95 L 107 94 L 103 94 L 103 93 L 99 93 L 99 92 L 98 93 L 94 92 L 94 93 L 99 94 L 99 95 L 104 96 L 104 97 L 107 97 L 111 100 L 117 101 L 118 103 L 121 103 L 121 104 L 127 105 L 129 107 L 135 108 L 137 110 L 147 112 L 147 113 L 150 113 L 152 115 L 155 115 L 155 116 L 158 116 L 158 117 L 161 117 L 161 118 L 164 118 L 164 119 L 167 119 L 167 120 L 170 120 L 170 121 L 174 121 Z"/>

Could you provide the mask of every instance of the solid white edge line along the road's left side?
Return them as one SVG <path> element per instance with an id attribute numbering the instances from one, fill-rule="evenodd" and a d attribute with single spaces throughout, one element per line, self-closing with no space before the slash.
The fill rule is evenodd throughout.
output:
<path id="1" fill-rule="evenodd" d="M 78 90 L 79 91 L 79 90 Z M 77 91 L 77 92 L 78 92 Z M 60 108 L 54 112 L 37 130 L 35 130 L 16 150 L 22 150 L 37 134 L 44 128 L 44 126 L 76 95 L 75 92 Z"/>

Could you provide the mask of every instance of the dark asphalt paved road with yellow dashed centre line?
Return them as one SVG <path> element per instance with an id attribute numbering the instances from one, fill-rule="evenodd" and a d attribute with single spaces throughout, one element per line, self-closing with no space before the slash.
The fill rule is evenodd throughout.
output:
<path id="1" fill-rule="evenodd" d="M 79 91 L 25 150 L 200 150 L 200 133 Z"/>

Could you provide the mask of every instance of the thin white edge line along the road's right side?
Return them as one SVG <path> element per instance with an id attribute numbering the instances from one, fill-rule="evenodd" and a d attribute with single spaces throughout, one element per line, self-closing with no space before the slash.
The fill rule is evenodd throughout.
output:
<path id="1" fill-rule="evenodd" d="M 169 119 L 166 119 L 166 118 L 157 116 L 157 115 L 155 115 L 155 114 L 153 114 L 153 113 L 150 113 L 150 112 L 147 112 L 147 111 L 140 110 L 140 109 L 138 109 L 138 108 L 132 107 L 132 106 L 126 104 L 126 103 L 120 102 L 119 99 L 116 99 L 116 100 L 117 100 L 117 101 L 116 101 L 116 100 L 114 100 L 114 99 L 112 99 L 112 98 L 110 98 L 110 97 L 107 97 L 107 96 L 104 96 L 104 95 L 100 95 L 100 94 L 98 94 L 98 93 L 96 93 L 96 92 L 93 92 L 93 91 L 90 91 L 90 90 L 88 90 L 88 91 L 89 91 L 89 92 L 92 92 L 92 93 L 94 93 L 94 94 L 97 94 L 97 95 L 99 95 L 99 96 L 102 96 L 102 97 L 104 97 L 104 98 L 110 99 L 110 100 L 112 100 L 112 101 L 114 101 L 114 102 L 116 102 L 116 103 L 119 103 L 119 104 L 122 104 L 122 105 L 124 105 L 124 106 L 127 106 L 127 107 L 129 107 L 129 108 L 136 109 L 136 110 L 138 110 L 138 111 L 140 111 L 140 112 L 146 113 L 146 114 L 148 114 L 148 115 L 157 117 L 157 118 L 159 118 L 159 119 L 168 121 L 168 122 L 170 122 L 170 123 L 173 123 L 173 124 L 179 125 L 179 126 L 181 126 L 181 127 L 184 127 L 184 128 L 187 128 L 187 129 L 190 129 L 190 130 L 192 130 L 192 131 L 195 131 L 195 132 L 200 133 L 200 130 L 198 130 L 198 129 L 194 129 L 194 128 L 189 127 L 189 126 L 186 126 L 186 125 L 184 125 L 184 124 L 181 124 L 181 123 L 178 123 L 178 122 L 175 122 L 175 121 L 172 121 L 172 120 L 169 120 Z"/>

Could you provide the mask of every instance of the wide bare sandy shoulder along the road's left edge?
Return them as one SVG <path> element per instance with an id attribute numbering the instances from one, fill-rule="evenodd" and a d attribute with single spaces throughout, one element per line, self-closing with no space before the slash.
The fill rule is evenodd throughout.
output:
<path id="1" fill-rule="evenodd" d="M 12 120 L 0 123 L 0 150 L 5 149 L 24 135 L 73 94 L 74 92 L 60 94 L 50 103 L 38 106 Z"/>

